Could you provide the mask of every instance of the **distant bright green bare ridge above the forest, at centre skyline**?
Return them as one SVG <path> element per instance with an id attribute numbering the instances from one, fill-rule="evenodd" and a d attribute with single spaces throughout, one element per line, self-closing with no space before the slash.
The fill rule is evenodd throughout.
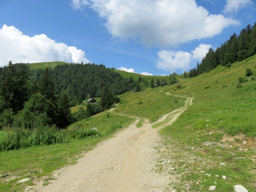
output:
<path id="1" fill-rule="evenodd" d="M 143 75 L 143 74 L 138 74 L 138 73 L 134 73 L 134 72 L 127 72 L 124 70 L 116 70 L 114 69 L 115 72 L 118 72 L 121 74 L 122 77 L 124 78 L 128 78 L 128 77 L 133 77 L 133 79 L 137 80 L 139 77 L 141 78 L 145 78 L 146 81 L 150 82 L 151 79 L 153 78 L 154 83 L 156 83 L 157 78 L 159 78 L 159 80 L 164 80 L 165 82 L 169 82 L 169 77 L 168 76 L 160 76 L 160 75 Z"/>

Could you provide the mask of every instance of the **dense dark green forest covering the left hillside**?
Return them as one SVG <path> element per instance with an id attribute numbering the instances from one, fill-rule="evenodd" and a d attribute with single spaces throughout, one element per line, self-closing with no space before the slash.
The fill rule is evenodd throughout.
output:
<path id="1" fill-rule="evenodd" d="M 15 126 L 65 127 L 79 120 L 70 106 L 87 96 L 100 96 L 88 104 L 80 117 L 91 116 L 118 101 L 115 94 L 135 87 L 133 78 L 123 78 L 104 65 L 71 64 L 31 71 L 29 64 L 9 61 L 0 74 L 0 128 Z"/>

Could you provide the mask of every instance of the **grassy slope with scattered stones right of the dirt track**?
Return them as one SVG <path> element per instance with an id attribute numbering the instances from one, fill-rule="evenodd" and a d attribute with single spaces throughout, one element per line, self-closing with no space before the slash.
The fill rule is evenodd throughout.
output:
<path id="1" fill-rule="evenodd" d="M 256 55 L 230 68 L 218 66 L 209 73 L 181 80 L 185 86 L 181 89 L 170 88 L 176 94 L 195 95 L 193 105 L 161 130 L 164 146 L 172 151 L 166 156 L 173 160 L 169 166 L 181 175 L 177 191 L 207 191 L 210 185 L 216 185 L 215 191 L 233 191 L 236 184 L 255 191 L 256 145 L 252 137 L 256 136 L 256 81 L 248 78 L 241 88 L 236 88 L 238 77 L 244 77 L 247 67 L 255 72 L 255 65 Z M 222 142 L 224 134 L 240 136 Z M 247 143 L 243 145 L 243 141 Z M 174 150 L 170 149 L 173 145 Z M 220 166 L 220 162 L 226 165 Z"/>

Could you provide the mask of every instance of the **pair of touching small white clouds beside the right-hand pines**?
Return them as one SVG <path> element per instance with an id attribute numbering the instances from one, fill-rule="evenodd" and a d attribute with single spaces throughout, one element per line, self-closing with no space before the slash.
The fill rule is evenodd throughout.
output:
<path id="1" fill-rule="evenodd" d="M 211 44 L 199 44 L 190 53 L 185 51 L 160 50 L 157 52 L 158 60 L 156 66 L 157 68 L 170 72 L 174 72 L 177 69 L 187 70 L 192 59 L 201 60 L 211 47 Z"/>

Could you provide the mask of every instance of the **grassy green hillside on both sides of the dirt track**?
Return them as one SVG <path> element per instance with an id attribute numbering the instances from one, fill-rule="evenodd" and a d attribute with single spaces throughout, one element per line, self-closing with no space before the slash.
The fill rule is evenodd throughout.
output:
<path id="1" fill-rule="evenodd" d="M 175 117 L 176 113 L 170 112 L 183 105 L 185 99 L 177 96 L 180 95 L 193 97 L 192 105 L 174 123 L 160 130 L 161 139 L 154 146 L 159 157 L 153 172 L 167 174 L 171 183 L 168 188 L 176 191 L 207 191 L 210 185 L 215 185 L 217 192 L 232 191 L 234 185 L 242 184 L 252 192 L 256 188 L 253 168 L 256 165 L 255 65 L 256 55 L 253 55 L 232 63 L 230 67 L 218 65 L 196 77 L 180 78 L 181 87 L 174 84 L 121 94 L 114 112 L 123 116 L 104 111 L 68 127 L 72 131 L 97 127 L 102 136 L 1 151 L 0 161 L 10 160 L 8 164 L 0 165 L 0 174 L 8 172 L 13 175 L 18 170 L 21 178 L 40 179 L 47 175 L 43 181 L 47 185 L 48 180 L 52 179 L 50 175 L 53 170 L 75 163 L 75 159 L 84 154 L 82 151 L 90 150 L 95 143 L 134 120 L 125 115 L 148 118 L 157 122 L 152 125 L 154 128 L 161 127 L 162 124 L 156 120 L 166 113 L 169 113 L 166 119 Z M 254 75 L 246 77 L 246 68 L 252 69 Z M 240 77 L 244 79 L 241 83 L 238 82 Z M 142 132 L 144 130 L 141 129 Z M 35 155 L 36 158 L 32 157 Z M 38 161 L 38 158 L 43 161 Z M 53 167 L 47 166 L 53 161 Z M 6 179 L 9 177 L 6 176 Z M 17 180 L 19 178 L 5 182 L 5 178 L 2 178 L 0 188 L 5 191 L 22 188 L 24 184 L 15 184 Z M 28 181 L 29 184 L 32 182 Z"/>

